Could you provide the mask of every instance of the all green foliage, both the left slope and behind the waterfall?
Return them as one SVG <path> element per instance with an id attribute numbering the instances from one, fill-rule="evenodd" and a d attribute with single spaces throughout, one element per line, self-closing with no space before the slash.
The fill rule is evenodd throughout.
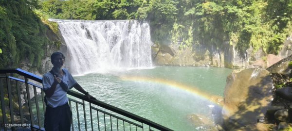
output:
<path id="1" fill-rule="evenodd" d="M 250 47 L 278 53 L 292 30 L 292 0 L 0 0 L 0 67 L 24 58 L 39 66 L 46 29 L 58 32 L 49 17 L 146 20 L 155 44 L 229 43 L 244 57 Z"/>

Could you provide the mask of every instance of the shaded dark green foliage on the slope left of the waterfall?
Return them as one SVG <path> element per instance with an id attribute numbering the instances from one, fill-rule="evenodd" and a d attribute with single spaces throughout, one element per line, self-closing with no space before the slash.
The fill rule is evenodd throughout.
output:
<path id="1" fill-rule="evenodd" d="M 47 28 L 33 12 L 37 0 L 0 0 L 0 68 L 19 67 L 21 60 L 40 66 Z"/>

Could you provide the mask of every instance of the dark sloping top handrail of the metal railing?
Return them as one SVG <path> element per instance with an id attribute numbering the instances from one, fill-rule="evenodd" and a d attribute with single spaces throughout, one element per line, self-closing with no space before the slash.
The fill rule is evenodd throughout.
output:
<path id="1" fill-rule="evenodd" d="M 17 73 L 17 74 L 22 75 L 22 76 L 24 76 L 24 77 L 26 77 L 26 78 L 29 78 L 29 79 L 31 79 L 31 80 L 34 80 L 34 81 L 36 81 L 36 82 L 40 82 L 40 83 L 42 83 L 42 78 L 41 78 L 41 77 L 39 77 L 39 76 L 37 76 L 37 75 L 35 75 L 35 74 L 33 74 L 33 73 L 30 73 L 30 72 L 28 72 L 28 71 L 22 70 L 22 69 L 20 69 L 20 68 L 16 68 L 16 69 L 0 69 L 0 74 L 2 74 L 2 73 Z M 38 88 L 39 88 L 39 87 L 38 87 Z M 153 128 L 156 128 L 156 129 L 158 129 L 158 130 L 161 130 L 161 131 L 173 131 L 173 130 L 168 129 L 168 128 L 166 128 L 166 127 L 160 125 L 160 124 L 157 124 L 157 123 L 155 123 L 155 122 L 153 122 L 153 121 L 150 121 L 150 120 L 148 120 L 148 119 L 146 119 L 146 118 L 143 118 L 143 117 L 141 117 L 141 116 L 138 116 L 138 115 L 132 114 L 132 113 L 130 113 L 130 112 L 128 112 L 128 111 L 125 111 L 125 110 L 123 110 L 123 109 L 120 109 L 120 108 L 114 107 L 114 106 L 112 106 L 112 105 L 110 105 L 110 104 L 107 104 L 107 103 L 105 103 L 105 102 L 102 102 L 102 101 L 99 101 L 99 100 L 94 100 L 94 99 L 88 99 L 88 98 L 86 98 L 84 95 L 82 95 L 82 94 L 80 94 L 80 93 L 78 93 L 78 92 L 75 92 L 75 91 L 73 91 L 73 90 L 69 90 L 69 91 L 67 92 L 67 94 L 69 94 L 69 95 L 71 95 L 71 96 L 73 96 L 73 97 L 76 97 L 76 98 L 83 99 L 83 100 L 85 100 L 85 101 L 88 101 L 88 102 L 90 102 L 90 103 L 92 103 L 92 104 L 95 104 L 95 105 L 97 105 L 97 106 L 103 107 L 103 108 L 105 108 L 105 109 L 108 109 L 108 110 L 110 110 L 110 111 L 112 111 L 112 112 L 115 112 L 115 113 L 118 113 L 118 114 L 120 114 L 120 115 L 127 116 L 128 118 L 131 118 L 131 119 L 133 119 L 133 120 L 136 120 L 136 121 L 139 121 L 139 122 L 145 123 L 145 124 L 147 124 L 147 125 L 149 125 L 149 126 L 151 126 L 151 127 L 153 127 Z"/>

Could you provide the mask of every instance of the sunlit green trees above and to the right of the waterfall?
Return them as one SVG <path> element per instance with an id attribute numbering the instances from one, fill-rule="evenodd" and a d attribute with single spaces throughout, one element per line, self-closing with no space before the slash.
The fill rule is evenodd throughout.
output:
<path id="1" fill-rule="evenodd" d="M 149 21 L 156 44 L 223 48 L 235 45 L 277 54 L 292 30 L 292 0 L 43 0 L 42 12 L 60 19 Z"/>

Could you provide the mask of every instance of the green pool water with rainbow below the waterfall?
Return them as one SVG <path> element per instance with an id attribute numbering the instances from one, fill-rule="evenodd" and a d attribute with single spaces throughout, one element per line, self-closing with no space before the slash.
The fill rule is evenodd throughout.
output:
<path id="1" fill-rule="evenodd" d="M 175 131 L 199 131 L 205 127 L 190 115 L 216 117 L 212 112 L 218 105 L 209 97 L 223 96 L 230 73 L 227 68 L 157 66 L 74 78 L 98 100 Z"/>

